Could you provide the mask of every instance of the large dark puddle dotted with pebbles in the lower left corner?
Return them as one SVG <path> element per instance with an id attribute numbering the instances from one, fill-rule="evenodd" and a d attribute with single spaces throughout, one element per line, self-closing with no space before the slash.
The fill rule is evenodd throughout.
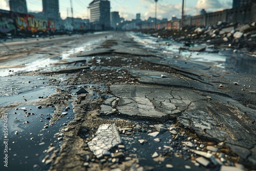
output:
<path id="1" fill-rule="evenodd" d="M 55 108 L 37 109 L 36 106 L 20 106 L 18 110 L 12 109 L 8 115 L 8 170 L 48 170 L 50 165 L 42 163 L 42 159 L 48 155 L 46 149 L 53 143 L 59 148 L 59 141 L 54 136 L 62 125 L 74 118 L 72 105 L 66 111 L 68 114 L 50 125 L 50 118 Z M 27 114 L 24 110 L 27 110 Z M 17 114 L 14 114 L 16 112 Z M 30 113 L 30 115 L 28 115 Z M 0 120 L 3 122 L 3 119 Z M 48 127 L 46 127 L 48 126 Z M 4 125 L 0 125 L 4 130 Z M 4 144 L 1 145 L 4 149 Z M 2 169 L 4 170 L 4 169 Z"/>

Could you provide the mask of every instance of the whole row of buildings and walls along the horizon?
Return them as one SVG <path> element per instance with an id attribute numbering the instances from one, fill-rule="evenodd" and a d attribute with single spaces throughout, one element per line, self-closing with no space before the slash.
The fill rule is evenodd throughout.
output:
<path id="1" fill-rule="evenodd" d="M 16 28 L 15 32 L 179 29 L 183 26 L 214 25 L 220 21 L 245 23 L 256 20 L 256 0 L 233 0 L 234 8 L 223 11 L 206 13 L 202 10 L 201 15 L 185 17 L 182 24 L 176 17 L 172 20 L 150 17 L 142 21 L 140 14 L 136 14 L 136 19 L 125 21 L 119 16 L 119 12 L 110 12 L 111 5 L 108 0 L 93 0 L 89 4 L 90 20 L 72 17 L 62 20 L 58 0 L 42 0 L 42 12 L 39 13 L 28 13 L 26 0 L 9 0 L 9 5 L 10 11 L 0 10 L 0 32 L 8 32 L 10 28 Z"/>

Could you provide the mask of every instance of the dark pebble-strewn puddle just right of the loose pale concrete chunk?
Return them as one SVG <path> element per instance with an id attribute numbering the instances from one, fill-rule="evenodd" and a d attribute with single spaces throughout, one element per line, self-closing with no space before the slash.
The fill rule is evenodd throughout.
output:
<path id="1" fill-rule="evenodd" d="M 169 146 L 172 141 L 172 135 L 169 132 L 159 134 L 156 138 L 160 138 L 161 142 L 154 141 L 154 137 L 148 136 L 146 133 L 136 133 L 132 137 L 122 136 L 123 143 L 126 150 L 130 154 L 136 154 L 139 158 L 139 164 L 141 166 L 153 166 L 158 170 L 167 170 L 166 164 L 172 164 L 174 168 L 172 170 L 187 170 L 184 165 L 191 166 L 190 170 L 205 170 L 201 167 L 195 166 L 194 163 L 189 160 L 180 159 L 173 154 L 166 157 L 164 161 L 155 161 L 152 155 L 157 152 L 158 154 L 168 154 L 167 148 L 164 145 Z M 145 139 L 147 142 L 144 144 L 139 143 L 139 139 Z M 182 164 L 181 164 L 182 163 Z"/>

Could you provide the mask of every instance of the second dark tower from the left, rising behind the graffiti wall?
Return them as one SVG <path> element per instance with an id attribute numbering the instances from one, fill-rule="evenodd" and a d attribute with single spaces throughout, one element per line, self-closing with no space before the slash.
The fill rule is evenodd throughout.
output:
<path id="1" fill-rule="evenodd" d="M 59 14 L 59 0 L 42 0 L 42 12 L 48 18 L 58 20 Z"/>

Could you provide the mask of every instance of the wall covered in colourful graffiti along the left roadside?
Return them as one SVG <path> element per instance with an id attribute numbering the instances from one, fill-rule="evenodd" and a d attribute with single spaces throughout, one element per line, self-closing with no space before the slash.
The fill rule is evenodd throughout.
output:
<path id="1" fill-rule="evenodd" d="M 0 10 L 0 34 L 12 35 L 54 32 L 55 22 L 52 19 L 39 19 L 31 14 L 22 14 Z"/>

